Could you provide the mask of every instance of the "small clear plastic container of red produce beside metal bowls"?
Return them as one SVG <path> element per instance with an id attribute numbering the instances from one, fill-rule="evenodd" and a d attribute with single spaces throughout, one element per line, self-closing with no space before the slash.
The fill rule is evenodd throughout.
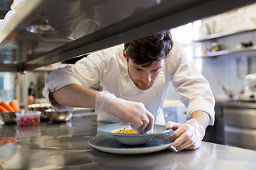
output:
<path id="1" fill-rule="evenodd" d="M 40 123 L 41 111 L 23 111 L 16 113 L 18 125 L 36 125 Z"/>

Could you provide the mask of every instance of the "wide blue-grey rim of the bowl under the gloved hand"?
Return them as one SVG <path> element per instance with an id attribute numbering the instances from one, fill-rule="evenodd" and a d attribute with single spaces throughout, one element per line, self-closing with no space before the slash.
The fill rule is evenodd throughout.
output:
<path id="1" fill-rule="evenodd" d="M 97 130 L 99 132 L 105 133 L 105 134 L 109 134 L 109 135 L 114 135 L 114 136 L 154 136 L 154 135 L 160 135 L 160 134 L 164 134 L 164 133 L 169 133 L 169 135 L 171 135 L 171 133 L 173 132 L 173 130 L 166 130 L 166 127 L 164 125 L 158 125 L 158 124 L 154 124 L 154 133 L 139 133 L 139 134 L 122 134 L 122 133 L 114 133 L 117 130 L 121 130 L 124 128 L 129 128 L 129 125 L 123 125 L 120 123 L 113 123 L 113 124 L 109 124 L 109 125 L 102 125 L 99 128 L 97 128 Z"/>

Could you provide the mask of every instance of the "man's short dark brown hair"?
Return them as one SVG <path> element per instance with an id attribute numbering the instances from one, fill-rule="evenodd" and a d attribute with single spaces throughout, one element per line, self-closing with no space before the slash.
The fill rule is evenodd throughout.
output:
<path id="1" fill-rule="evenodd" d="M 124 43 L 127 59 L 135 64 L 146 64 L 149 67 L 153 62 L 166 59 L 173 47 L 171 31 L 161 31 L 147 38 Z"/>

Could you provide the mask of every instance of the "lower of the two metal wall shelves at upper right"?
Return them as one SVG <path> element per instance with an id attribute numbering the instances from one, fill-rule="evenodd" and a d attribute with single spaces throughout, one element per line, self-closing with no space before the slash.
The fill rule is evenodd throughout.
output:
<path id="1" fill-rule="evenodd" d="M 256 51 L 256 45 L 252 47 L 246 47 L 241 50 L 220 50 L 216 52 L 208 52 L 206 55 L 203 55 L 201 57 L 219 57 L 219 56 L 224 56 L 224 55 L 240 55 L 241 53 L 249 53 L 249 52 L 255 52 Z"/>

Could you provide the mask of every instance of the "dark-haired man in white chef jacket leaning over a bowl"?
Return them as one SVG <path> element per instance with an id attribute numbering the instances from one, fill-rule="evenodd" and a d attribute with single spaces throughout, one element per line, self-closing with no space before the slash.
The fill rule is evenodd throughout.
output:
<path id="1" fill-rule="evenodd" d="M 100 81 L 103 91 L 90 86 Z M 165 122 L 162 106 L 172 83 L 187 107 L 187 122 Z M 43 89 L 60 111 L 92 108 L 97 120 L 128 123 L 150 132 L 154 123 L 174 130 L 170 140 L 177 150 L 201 145 L 214 123 L 214 98 L 208 81 L 185 56 L 170 30 L 93 52 L 75 65 L 50 73 Z"/>

